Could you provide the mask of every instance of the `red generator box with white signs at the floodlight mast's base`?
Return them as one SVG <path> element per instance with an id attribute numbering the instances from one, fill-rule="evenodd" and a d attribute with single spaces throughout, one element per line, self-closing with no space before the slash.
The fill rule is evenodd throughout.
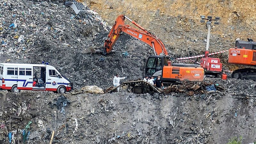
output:
<path id="1" fill-rule="evenodd" d="M 222 63 L 220 63 L 219 58 L 210 58 L 210 57 L 202 58 L 201 67 L 207 71 L 216 71 L 216 72 L 222 71 Z"/>

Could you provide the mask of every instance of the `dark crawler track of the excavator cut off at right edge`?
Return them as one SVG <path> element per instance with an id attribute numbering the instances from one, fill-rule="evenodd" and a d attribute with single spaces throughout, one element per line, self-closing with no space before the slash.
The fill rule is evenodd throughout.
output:
<path id="1" fill-rule="evenodd" d="M 231 77 L 236 79 L 256 80 L 256 69 L 255 68 L 237 69 L 233 71 Z"/>

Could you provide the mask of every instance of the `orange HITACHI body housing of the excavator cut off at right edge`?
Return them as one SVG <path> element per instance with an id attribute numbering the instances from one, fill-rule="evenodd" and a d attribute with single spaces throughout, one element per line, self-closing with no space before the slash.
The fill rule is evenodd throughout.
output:
<path id="1" fill-rule="evenodd" d="M 231 48 L 228 52 L 228 63 L 256 65 L 256 51 L 251 49 Z"/>

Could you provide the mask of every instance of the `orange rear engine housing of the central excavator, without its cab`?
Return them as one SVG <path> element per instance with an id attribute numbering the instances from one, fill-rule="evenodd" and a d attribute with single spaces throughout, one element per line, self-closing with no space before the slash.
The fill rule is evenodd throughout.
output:
<path id="1" fill-rule="evenodd" d="M 164 66 L 163 78 L 177 79 L 186 82 L 202 82 L 204 80 L 204 68 Z"/>

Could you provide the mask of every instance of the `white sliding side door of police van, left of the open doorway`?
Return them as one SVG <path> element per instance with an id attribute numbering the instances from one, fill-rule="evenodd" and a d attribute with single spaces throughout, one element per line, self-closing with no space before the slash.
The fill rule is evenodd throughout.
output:
<path id="1" fill-rule="evenodd" d="M 33 67 L 18 66 L 18 89 L 32 90 L 33 87 Z"/>

